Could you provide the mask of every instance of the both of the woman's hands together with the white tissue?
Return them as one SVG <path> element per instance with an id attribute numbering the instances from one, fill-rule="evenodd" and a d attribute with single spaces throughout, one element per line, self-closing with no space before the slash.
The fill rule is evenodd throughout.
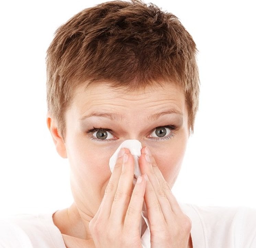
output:
<path id="1" fill-rule="evenodd" d="M 118 156 L 121 148 L 130 152 Z M 154 157 L 144 154 L 148 151 L 143 149 L 138 140 L 125 140 L 109 159 L 112 175 L 89 225 L 95 247 L 190 248 L 191 221 L 182 212 Z M 133 190 L 131 155 L 135 178 L 148 176 L 141 182 L 134 178 Z M 144 233 L 143 220 L 147 225 Z"/>

